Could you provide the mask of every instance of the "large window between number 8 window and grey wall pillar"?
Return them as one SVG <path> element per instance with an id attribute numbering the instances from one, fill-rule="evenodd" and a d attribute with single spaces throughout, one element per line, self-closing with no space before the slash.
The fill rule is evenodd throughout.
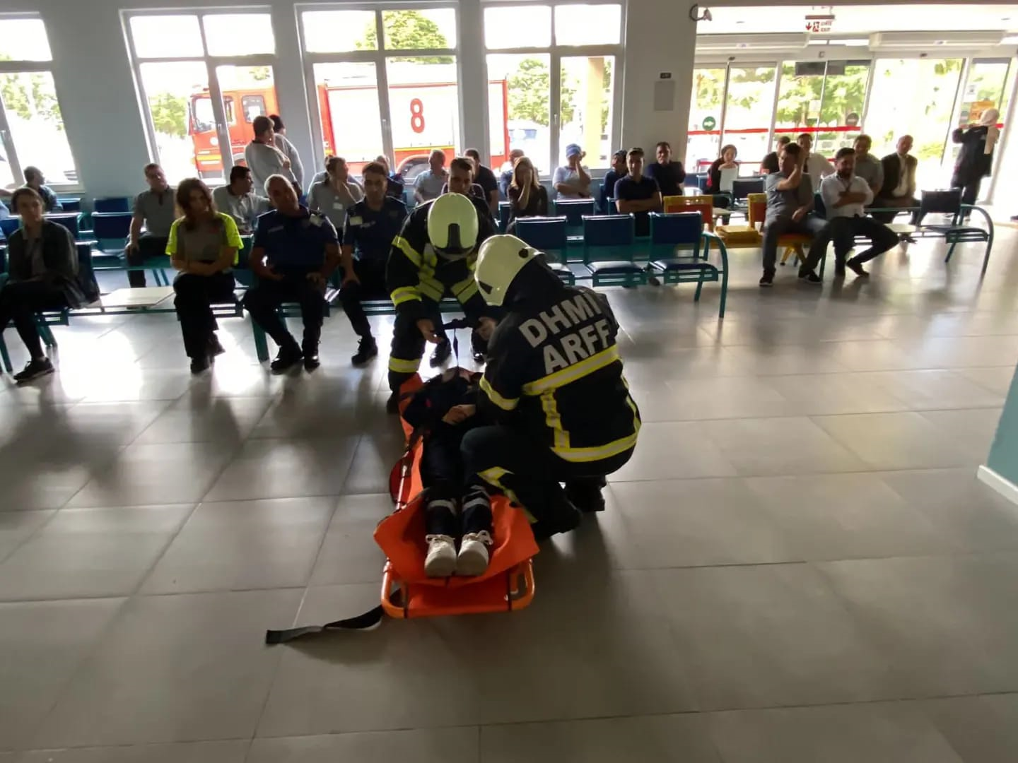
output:
<path id="1" fill-rule="evenodd" d="M 566 145 L 577 143 L 584 164 L 607 168 L 618 130 L 621 41 L 617 3 L 486 7 L 485 45 L 499 51 L 487 59 L 493 166 L 521 149 L 549 175 L 565 162 Z"/>

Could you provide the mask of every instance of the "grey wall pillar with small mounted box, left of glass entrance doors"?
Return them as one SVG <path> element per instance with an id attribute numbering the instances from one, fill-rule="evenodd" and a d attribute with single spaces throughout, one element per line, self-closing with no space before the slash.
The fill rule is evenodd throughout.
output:
<path id="1" fill-rule="evenodd" d="M 668 140 L 684 161 L 696 22 L 686 5 L 629 0 L 625 46 L 622 144 L 642 146 L 653 157 L 654 144 Z"/>

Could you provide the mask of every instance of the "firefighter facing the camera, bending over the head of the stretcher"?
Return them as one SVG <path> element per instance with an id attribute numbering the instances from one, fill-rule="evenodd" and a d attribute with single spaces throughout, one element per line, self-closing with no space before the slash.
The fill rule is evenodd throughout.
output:
<path id="1" fill-rule="evenodd" d="M 493 232 L 491 219 L 478 215 L 470 199 L 445 193 L 415 208 L 393 240 L 386 267 L 386 288 L 396 307 L 389 355 L 392 395 L 386 406 L 390 413 L 398 411 L 400 385 L 417 372 L 426 341 L 437 345 L 433 366 L 450 355 L 439 309 L 446 293 L 456 297 L 482 337 L 491 335 L 498 312 L 477 292 L 473 268 L 477 244 Z"/>

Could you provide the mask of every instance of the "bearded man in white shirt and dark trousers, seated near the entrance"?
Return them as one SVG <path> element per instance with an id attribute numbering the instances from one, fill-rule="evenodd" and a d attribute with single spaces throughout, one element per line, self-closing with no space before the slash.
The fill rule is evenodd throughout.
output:
<path id="1" fill-rule="evenodd" d="M 836 174 L 824 178 L 821 183 L 821 196 L 827 209 L 827 227 L 809 247 L 809 256 L 799 269 L 799 278 L 808 283 L 819 283 L 813 269 L 827 251 L 829 241 L 834 241 L 835 275 L 844 276 L 848 268 L 859 278 L 869 276 L 862 270 L 863 262 L 898 243 L 898 236 L 890 228 L 865 216 L 863 208 L 872 202 L 873 191 L 865 180 L 855 174 L 855 150 L 840 149 L 835 157 L 835 167 Z M 870 246 L 845 261 L 849 249 L 855 245 L 856 236 L 868 238 Z"/>

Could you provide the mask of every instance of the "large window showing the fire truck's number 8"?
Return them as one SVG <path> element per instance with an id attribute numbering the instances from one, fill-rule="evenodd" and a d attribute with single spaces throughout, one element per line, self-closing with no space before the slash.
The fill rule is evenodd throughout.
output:
<path id="1" fill-rule="evenodd" d="M 453 8 L 306 10 L 300 20 L 325 156 L 358 172 L 385 155 L 412 180 L 432 150 L 460 151 Z"/>

